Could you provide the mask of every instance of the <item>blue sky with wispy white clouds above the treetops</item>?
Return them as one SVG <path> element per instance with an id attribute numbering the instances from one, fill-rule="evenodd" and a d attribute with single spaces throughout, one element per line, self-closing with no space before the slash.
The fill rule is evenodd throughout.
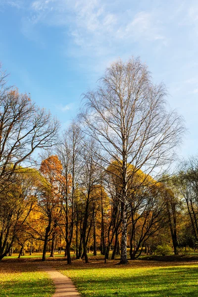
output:
<path id="1" fill-rule="evenodd" d="M 31 94 L 66 127 L 81 94 L 118 57 L 139 55 L 198 152 L 198 1 L 0 0 L 0 61 L 10 84 Z"/>

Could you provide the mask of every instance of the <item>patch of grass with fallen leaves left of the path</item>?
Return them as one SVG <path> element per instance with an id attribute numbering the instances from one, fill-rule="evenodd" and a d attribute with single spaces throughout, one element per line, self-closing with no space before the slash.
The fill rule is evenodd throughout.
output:
<path id="1" fill-rule="evenodd" d="M 48 274 L 28 263 L 0 263 L 0 297 L 51 297 L 54 285 Z"/>

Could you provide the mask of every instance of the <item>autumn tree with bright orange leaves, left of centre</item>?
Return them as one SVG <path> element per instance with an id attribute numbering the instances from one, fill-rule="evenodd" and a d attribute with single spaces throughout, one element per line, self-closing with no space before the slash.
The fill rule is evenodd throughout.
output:
<path id="1" fill-rule="evenodd" d="M 41 163 L 38 172 L 36 205 L 34 216 L 28 222 L 27 233 L 44 243 L 42 261 L 46 260 L 48 243 L 54 239 L 54 232 L 61 216 L 61 187 L 59 172 L 62 165 L 57 155 L 49 155 Z"/>

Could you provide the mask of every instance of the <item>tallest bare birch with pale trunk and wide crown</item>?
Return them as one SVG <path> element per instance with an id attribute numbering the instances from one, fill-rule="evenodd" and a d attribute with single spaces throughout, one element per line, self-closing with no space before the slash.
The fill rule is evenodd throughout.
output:
<path id="1" fill-rule="evenodd" d="M 183 119 L 167 110 L 165 97 L 165 86 L 152 83 L 139 58 L 113 63 L 96 90 L 85 95 L 84 129 L 96 140 L 103 164 L 116 160 L 114 166 L 121 170 L 123 264 L 127 263 L 128 168 L 133 165 L 134 173 L 142 168 L 147 174 L 162 168 L 173 160 L 173 149 L 184 133 Z"/>

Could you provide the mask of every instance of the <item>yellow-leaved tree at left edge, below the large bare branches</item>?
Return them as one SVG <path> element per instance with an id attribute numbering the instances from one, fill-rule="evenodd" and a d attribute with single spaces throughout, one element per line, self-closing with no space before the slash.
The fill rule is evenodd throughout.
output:
<path id="1" fill-rule="evenodd" d="M 23 230 L 36 200 L 35 171 L 24 168 L 17 171 L 0 192 L 0 260 L 9 253 Z"/>

